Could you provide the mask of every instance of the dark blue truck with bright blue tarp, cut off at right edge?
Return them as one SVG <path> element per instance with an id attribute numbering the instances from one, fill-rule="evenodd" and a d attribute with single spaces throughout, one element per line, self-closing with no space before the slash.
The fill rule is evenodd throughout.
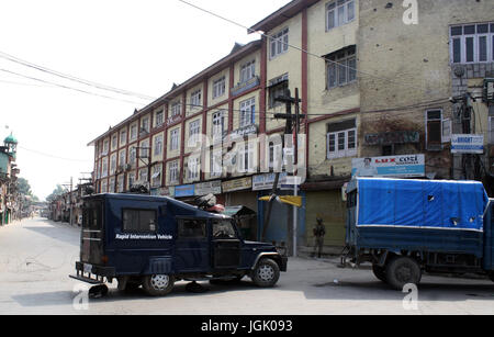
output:
<path id="1" fill-rule="evenodd" d="M 494 281 L 493 205 L 478 181 L 353 178 L 341 263 L 370 262 L 397 290 L 423 272 Z"/>

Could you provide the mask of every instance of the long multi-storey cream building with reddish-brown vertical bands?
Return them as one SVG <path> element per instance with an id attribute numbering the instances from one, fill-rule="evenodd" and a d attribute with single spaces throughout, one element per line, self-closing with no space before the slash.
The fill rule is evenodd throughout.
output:
<path id="1" fill-rule="evenodd" d="M 250 233 L 259 238 L 266 204 L 258 199 L 272 187 L 269 172 L 283 166 L 278 99 L 297 91 L 306 172 L 299 243 L 312 244 L 322 217 L 326 245 L 341 246 L 343 188 L 363 172 L 359 162 L 381 165 L 378 175 L 405 176 L 392 165 L 412 158 L 414 177 L 492 177 L 492 13 L 490 1 L 291 1 L 250 27 L 263 32 L 259 41 L 235 45 L 91 142 L 97 189 L 127 191 L 142 181 L 186 200 L 212 192 L 255 210 Z M 465 92 L 480 99 L 463 100 Z M 451 154 L 451 134 L 460 133 L 484 135 L 486 155 Z M 272 212 L 266 238 L 290 243 L 290 207 Z"/>

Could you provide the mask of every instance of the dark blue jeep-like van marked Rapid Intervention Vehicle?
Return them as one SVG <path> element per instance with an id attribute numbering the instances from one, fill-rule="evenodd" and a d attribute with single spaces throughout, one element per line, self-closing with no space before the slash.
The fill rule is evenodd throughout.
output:
<path id="1" fill-rule="evenodd" d="M 287 257 L 271 244 L 242 238 L 232 217 L 170 198 L 97 194 L 83 200 L 80 261 L 74 279 L 117 280 L 166 295 L 179 280 L 239 280 L 273 287 Z"/>

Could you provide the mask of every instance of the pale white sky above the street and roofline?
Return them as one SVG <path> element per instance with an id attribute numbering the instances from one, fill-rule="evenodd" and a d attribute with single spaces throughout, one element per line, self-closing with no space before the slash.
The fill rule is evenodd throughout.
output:
<path id="1" fill-rule="evenodd" d="M 188 2 L 251 26 L 290 0 Z M 236 42 L 259 38 L 179 0 L 2 0 L 0 32 L 0 141 L 18 138 L 20 177 L 42 200 L 71 177 L 74 183 L 89 177 L 88 144 L 153 100 L 69 81 L 5 55 L 159 98 Z"/>

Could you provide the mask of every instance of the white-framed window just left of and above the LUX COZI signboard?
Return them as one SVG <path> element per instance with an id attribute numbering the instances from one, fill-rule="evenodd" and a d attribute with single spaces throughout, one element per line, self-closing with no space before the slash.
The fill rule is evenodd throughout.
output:
<path id="1" fill-rule="evenodd" d="M 357 156 L 357 126 L 355 120 L 327 125 L 327 159 Z"/>

